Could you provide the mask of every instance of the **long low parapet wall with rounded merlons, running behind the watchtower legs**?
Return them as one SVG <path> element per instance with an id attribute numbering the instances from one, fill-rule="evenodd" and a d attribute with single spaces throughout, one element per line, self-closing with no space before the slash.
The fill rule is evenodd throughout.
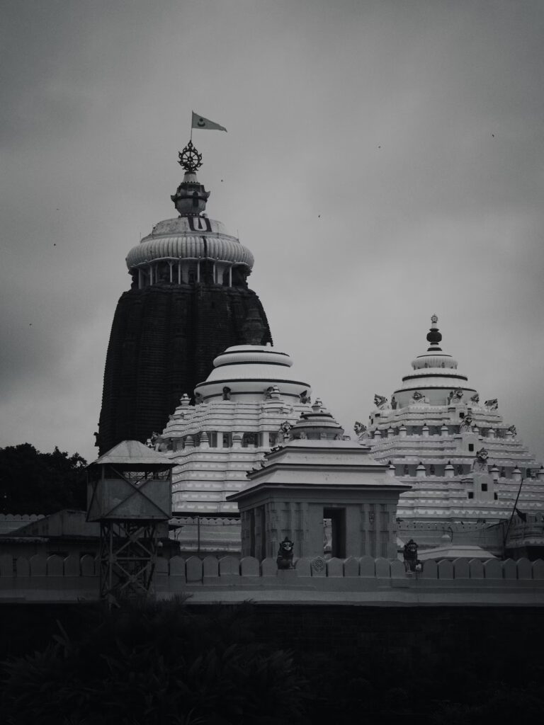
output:
<path id="1" fill-rule="evenodd" d="M 0 556 L 0 602 L 96 600 L 99 567 L 90 555 L 63 559 Z M 544 561 L 426 561 L 418 574 L 397 560 L 301 558 L 279 571 L 276 560 L 196 556 L 159 558 L 157 597 L 191 602 L 314 602 L 337 604 L 544 605 Z"/>

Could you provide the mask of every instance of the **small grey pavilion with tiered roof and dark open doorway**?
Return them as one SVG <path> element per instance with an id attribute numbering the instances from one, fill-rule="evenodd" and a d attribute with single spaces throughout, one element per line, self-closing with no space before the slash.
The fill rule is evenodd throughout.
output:
<path id="1" fill-rule="evenodd" d="M 397 502 L 409 486 L 343 433 L 314 405 L 248 474 L 247 485 L 229 497 L 242 513 L 242 555 L 279 555 L 287 537 L 294 557 L 317 556 L 314 566 L 324 568 L 329 534 L 333 558 L 396 557 Z"/>

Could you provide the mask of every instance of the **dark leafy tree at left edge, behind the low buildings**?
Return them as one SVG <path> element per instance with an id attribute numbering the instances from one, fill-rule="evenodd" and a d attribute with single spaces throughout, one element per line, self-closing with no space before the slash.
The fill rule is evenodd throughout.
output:
<path id="1" fill-rule="evenodd" d="M 57 447 L 41 453 L 30 443 L 0 448 L 1 513 L 54 513 L 86 508 L 86 460 Z"/>

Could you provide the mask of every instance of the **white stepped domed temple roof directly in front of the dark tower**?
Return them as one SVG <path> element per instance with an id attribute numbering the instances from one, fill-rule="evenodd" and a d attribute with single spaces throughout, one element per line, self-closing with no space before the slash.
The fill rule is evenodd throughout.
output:
<path id="1" fill-rule="evenodd" d="M 237 515 L 228 494 L 245 485 L 247 471 L 310 410 L 310 385 L 284 352 L 236 345 L 213 365 L 195 388 L 197 405 L 184 395 L 156 440 L 176 463 L 173 510 L 178 515 Z"/>

